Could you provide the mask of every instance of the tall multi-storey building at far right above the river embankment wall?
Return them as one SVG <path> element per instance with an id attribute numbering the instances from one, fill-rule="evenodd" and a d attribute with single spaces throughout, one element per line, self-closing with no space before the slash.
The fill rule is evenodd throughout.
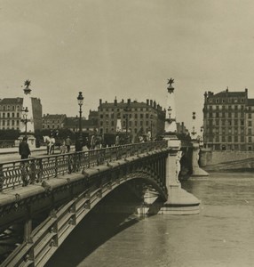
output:
<path id="1" fill-rule="evenodd" d="M 203 142 L 212 150 L 254 150 L 254 100 L 244 92 L 204 93 Z"/>

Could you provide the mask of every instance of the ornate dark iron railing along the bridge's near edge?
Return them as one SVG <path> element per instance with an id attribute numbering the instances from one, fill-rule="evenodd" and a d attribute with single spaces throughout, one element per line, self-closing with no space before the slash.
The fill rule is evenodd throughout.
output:
<path id="1" fill-rule="evenodd" d="M 43 182 L 59 175 L 82 172 L 92 166 L 167 148 L 167 142 L 143 142 L 0 163 L 0 191 Z"/>

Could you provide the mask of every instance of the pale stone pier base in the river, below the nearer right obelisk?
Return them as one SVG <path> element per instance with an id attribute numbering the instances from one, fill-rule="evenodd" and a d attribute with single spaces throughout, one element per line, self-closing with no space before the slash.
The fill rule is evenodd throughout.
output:
<path id="1" fill-rule="evenodd" d="M 159 214 L 198 214 L 200 200 L 183 190 L 179 182 L 180 141 L 176 136 L 171 135 L 165 136 L 164 139 L 171 148 L 166 162 L 166 186 L 169 197 Z"/>

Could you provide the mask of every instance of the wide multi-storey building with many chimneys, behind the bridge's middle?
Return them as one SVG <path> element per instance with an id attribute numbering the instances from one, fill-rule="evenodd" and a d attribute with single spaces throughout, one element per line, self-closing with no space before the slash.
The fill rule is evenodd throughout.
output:
<path id="1" fill-rule="evenodd" d="M 117 120 L 121 121 L 121 131 L 132 135 L 132 142 L 139 135 L 150 133 L 152 138 L 163 134 L 165 111 L 155 101 L 102 102 L 99 100 L 99 134 L 116 134 Z"/>

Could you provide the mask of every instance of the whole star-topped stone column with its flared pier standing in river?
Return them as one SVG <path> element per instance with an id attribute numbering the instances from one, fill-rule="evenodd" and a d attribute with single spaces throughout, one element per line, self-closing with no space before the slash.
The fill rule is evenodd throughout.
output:
<path id="1" fill-rule="evenodd" d="M 168 200 L 164 203 L 160 210 L 160 214 L 198 214 L 199 213 L 199 199 L 181 188 L 179 182 L 181 143 L 176 136 L 176 109 L 174 87 L 172 84 L 174 80 L 169 79 L 167 108 L 168 112 L 165 119 L 165 134 L 164 140 L 168 142 L 170 153 L 166 162 L 166 186 L 168 190 Z"/>

